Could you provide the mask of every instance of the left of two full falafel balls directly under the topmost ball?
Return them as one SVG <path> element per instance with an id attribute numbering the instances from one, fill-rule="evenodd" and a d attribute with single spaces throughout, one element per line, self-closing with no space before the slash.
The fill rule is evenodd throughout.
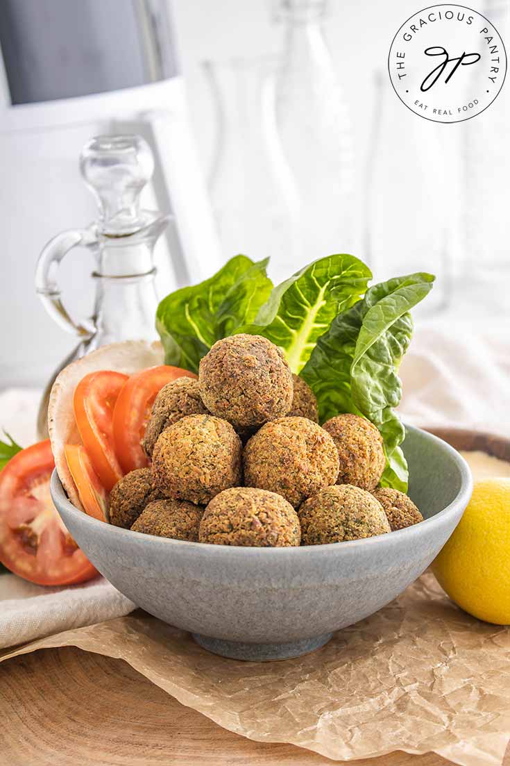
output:
<path id="1" fill-rule="evenodd" d="M 240 484 L 240 438 L 219 417 L 185 415 L 156 441 L 152 475 L 165 497 L 205 505 Z"/>

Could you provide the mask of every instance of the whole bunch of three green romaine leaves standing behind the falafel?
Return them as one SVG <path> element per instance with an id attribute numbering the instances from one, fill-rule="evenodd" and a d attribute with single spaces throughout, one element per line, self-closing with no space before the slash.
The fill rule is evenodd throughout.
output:
<path id="1" fill-rule="evenodd" d="M 402 394 L 398 366 L 413 329 L 408 312 L 434 277 L 410 274 L 367 289 L 368 267 L 337 254 L 273 288 L 266 266 L 237 255 L 210 279 L 162 300 L 156 327 L 165 361 L 198 372 L 217 340 L 238 332 L 265 336 L 312 387 L 321 423 L 353 412 L 378 427 L 387 458 L 381 484 L 405 492 L 405 430 L 394 411 Z"/>

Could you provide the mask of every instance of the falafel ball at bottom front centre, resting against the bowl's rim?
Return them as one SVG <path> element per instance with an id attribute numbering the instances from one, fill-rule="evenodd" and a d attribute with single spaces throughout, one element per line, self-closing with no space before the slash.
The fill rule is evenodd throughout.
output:
<path id="1" fill-rule="evenodd" d="M 240 486 L 225 489 L 211 500 L 198 539 L 214 545 L 282 548 L 299 545 L 301 529 L 296 511 L 283 497 Z"/>

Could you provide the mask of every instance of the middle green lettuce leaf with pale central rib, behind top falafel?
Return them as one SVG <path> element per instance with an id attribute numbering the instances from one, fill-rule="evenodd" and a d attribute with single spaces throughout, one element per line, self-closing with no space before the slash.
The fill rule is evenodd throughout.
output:
<path id="1" fill-rule="evenodd" d="M 315 260 L 276 286 L 251 326 L 240 332 L 262 335 L 279 345 L 299 373 L 332 319 L 365 293 L 370 269 L 352 255 Z"/>

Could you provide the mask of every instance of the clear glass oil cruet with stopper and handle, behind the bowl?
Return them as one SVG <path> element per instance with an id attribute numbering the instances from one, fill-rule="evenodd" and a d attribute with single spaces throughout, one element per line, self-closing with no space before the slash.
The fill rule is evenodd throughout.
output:
<path id="1" fill-rule="evenodd" d="M 57 234 L 42 250 L 35 289 L 47 313 L 79 343 L 54 373 L 38 414 L 39 437 L 47 436 L 47 401 L 58 372 L 106 343 L 155 340 L 158 306 L 153 250 L 170 215 L 142 210 L 140 194 L 152 178 L 154 159 L 141 136 L 97 136 L 83 146 L 80 171 L 99 207 L 99 219 L 86 229 Z M 93 315 L 72 319 L 60 297 L 60 261 L 74 247 L 93 254 L 96 282 Z"/>

